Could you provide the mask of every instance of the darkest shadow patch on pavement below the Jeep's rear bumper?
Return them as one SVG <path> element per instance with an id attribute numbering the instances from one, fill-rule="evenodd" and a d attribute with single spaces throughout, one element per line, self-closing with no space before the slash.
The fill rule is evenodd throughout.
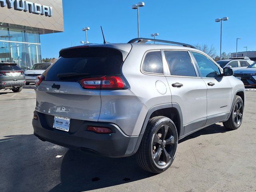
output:
<path id="1" fill-rule="evenodd" d="M 107 158 L 68 150 L 61 165 L 61 183 L 50 192 L 94 190 L 150 176 L 154 174 L 142 170 L 136 156 Z"/>

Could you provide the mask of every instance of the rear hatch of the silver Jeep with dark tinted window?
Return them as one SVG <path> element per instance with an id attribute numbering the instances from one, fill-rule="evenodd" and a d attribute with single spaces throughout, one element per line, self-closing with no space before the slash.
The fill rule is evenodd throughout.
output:
<path id="1" fill-rule="evenodd" d="M 97 83 L 103 82 L 102 77 L 121 76 L 127 51 L 104 46 L 61 50 L 59 59 L 42 74 L 44 80 L 36 86 L 36 110 L 97 121 L 101 108 L 101 88 Z"/>

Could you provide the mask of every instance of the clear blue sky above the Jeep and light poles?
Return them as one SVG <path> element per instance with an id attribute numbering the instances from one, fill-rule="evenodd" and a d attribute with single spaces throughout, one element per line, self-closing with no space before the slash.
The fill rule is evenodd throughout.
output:
<path id="1" fill-rule="evenodd" d="M 72 3 L 71 3 L 72 2 Z M 108 42 L 128 42 L 137 37 L 137 0 L 63 0 L 65 32 L 41 35 L 42 58 L 58 57 L 62 48 L 85 41 L 82 28 L 90 27 L 88 41 L 102 43 L 100 26 Z M 256 0 L 144 0 L 140 9 L 140 36 L 188 44 L 214 45 L 220 51 L 220 23 L 223 22 L 222 51 L 256 50 Z"/>

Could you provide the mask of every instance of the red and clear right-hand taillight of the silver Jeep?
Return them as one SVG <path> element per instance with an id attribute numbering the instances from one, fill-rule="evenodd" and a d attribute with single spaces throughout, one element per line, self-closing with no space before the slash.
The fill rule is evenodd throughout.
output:
<path id="1" fill-rule="evenodd" d="M 84 89 L 126 89 L 124 81 L 119 76 L 104 76 L 101 78 L 85 78 L 80 81 Z"/>

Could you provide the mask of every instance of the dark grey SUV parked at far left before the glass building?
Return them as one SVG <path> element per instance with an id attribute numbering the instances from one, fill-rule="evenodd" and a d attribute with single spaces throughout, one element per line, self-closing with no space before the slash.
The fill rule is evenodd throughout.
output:
<path id="1" fill-rule="evenodd" d="M 24 71 L 16 63 L 0 62 L 0 90 L 21 92 L 25 84 Z"/>

